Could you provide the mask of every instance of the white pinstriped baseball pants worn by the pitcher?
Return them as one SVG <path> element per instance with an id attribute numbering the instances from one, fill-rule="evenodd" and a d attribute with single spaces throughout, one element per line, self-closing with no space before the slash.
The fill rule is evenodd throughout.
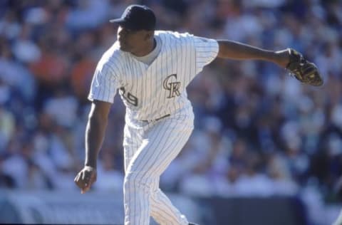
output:
<path id="1" fill-rule="evenodd" d="M 192 109 L 156 122 L 125 125 L 125 225 L 188 224 L 159 188 L 162 172 L 180 153 L 193 130 Z M 140 124 L 139 124 L 140 123 Z"/>

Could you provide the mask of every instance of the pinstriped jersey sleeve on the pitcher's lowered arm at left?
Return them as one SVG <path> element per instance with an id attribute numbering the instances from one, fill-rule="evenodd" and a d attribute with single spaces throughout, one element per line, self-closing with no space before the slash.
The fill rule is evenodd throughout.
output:
<path id="1" fill-rule="evenodd" d="M 120 83 L 118 81 L 118 66 L 115 66 L 115 61 L 106 59 L 106 54 L 96 66 L 93 80 L 90 85 L 90 93 L 88 100 L 101 100 L 108 103 L 114 102 L 114 97 L 117 93 Z"/>

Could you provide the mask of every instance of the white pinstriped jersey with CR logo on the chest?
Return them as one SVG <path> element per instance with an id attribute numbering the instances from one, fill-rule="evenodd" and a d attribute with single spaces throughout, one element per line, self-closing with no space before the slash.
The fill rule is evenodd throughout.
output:
<path id="1" fill-rule="evenodd" d="M 155 31 L 155 36 L 162 46 L 150 66 L 120 51 L 116 41 L 98 62 L 88 99 L 113 103 L 119 90 L 133 120 L 157 119 L 190 105 L 186 87 L 216 58 L 217 41 L 171 31 Z"/>

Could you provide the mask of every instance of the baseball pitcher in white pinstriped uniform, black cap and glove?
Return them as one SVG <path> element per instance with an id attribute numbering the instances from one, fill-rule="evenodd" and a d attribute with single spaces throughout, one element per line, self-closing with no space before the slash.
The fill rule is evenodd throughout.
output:
<path id="1" fill-rule="evenodd" d="M 119 25 L 118 40 L 103 54 L 93 75 L 88 96 L 92 105 L 86 127 L 85 166 L 75 182 L 85 193 L 96 180 L 98 152 L 108 112 L 118 92 L 126 107 L 126 225 L 149 224 L 150 216 L 159 224 L 189 224 L 159 188 L 159 179 L 194 128 L 187 85 L 214 58 L 259 59 L 283 68 L 291 64 L 296 67 L 290 71 L 299 80 L 304 82 L 311 76 L 309 80 L 316 79 L 311 84 L 323 83 L 314 64 L 300 64 L 298 58 L 291 63 L 292 55 L 301 56 L 291 49 L 266 51 L 234 41 L 155 31 L 155 14 L 147 6 L 128 6 L 120 19 L 110 22 Z"/>

